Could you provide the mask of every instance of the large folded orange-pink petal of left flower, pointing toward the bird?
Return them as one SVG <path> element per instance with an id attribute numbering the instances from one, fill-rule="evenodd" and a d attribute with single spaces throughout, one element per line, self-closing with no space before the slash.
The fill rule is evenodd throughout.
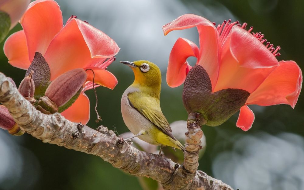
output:
<path id="1" fill-rule="evenodd" d="M 78 19 L 72 19 L 54 37 L 45 54 L 51 80 L 74 69 L 95 65 L 116 55 L 119 47 L 109 36 Z"/>

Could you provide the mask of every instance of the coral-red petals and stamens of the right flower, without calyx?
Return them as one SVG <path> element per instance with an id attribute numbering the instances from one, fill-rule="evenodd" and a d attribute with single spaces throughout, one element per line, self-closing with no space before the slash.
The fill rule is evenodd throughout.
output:
<path id="1" fill-rule="evenodd" d="M 192 68 L 186 60 L 193 56 L 207 71 L 212 92 L 237 88 L 250 93 L 237 120 L 242 130 L 249 130 L 254 122 L 247 105 L 289 104 L 294 108 L 302 88 L 299 66 L 294 61 L 278 62 L 280 47 L 274 48 L 261 33 L 250 33 L 253 27 L 245 30 L 247 23 L 241 26 L 229 20 L 215 25 L 201 16 L 186 14 L 163 26 L 164 35 L 194 26 L 199 32 L 200 48 L 185 38 L 175 42 L 168 63 L 168 85 L 177 87 L 185 81 Z"/>

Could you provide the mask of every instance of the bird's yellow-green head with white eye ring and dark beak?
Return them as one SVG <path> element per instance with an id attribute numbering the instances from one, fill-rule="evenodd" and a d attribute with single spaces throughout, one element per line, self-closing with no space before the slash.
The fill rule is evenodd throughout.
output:
<path id="1" fill-rule="evenodd" d="M 132 86 L 136 86 L 142 90 L 155 91 L 156 94 L 160 93 L 161 70 L 156 64 L 147 60 L 120 62 L 132 68 L 135 76 Z"/>

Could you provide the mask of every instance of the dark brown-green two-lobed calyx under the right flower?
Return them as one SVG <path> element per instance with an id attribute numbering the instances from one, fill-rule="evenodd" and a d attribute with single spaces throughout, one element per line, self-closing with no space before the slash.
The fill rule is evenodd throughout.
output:
<path id="1" fill-rule="evenodd" d="M 249 95 L 245 90 L 233 88 L 212 92 L 207 71 L 195 65 L 185 79 L 183 102 L 188 120 L 199 118 L 201 125 L 219 126 L 240 110 Z"/>

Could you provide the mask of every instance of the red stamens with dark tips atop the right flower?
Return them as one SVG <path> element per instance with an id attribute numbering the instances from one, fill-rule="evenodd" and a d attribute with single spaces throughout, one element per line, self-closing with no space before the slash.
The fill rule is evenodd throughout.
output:
<path id="1" fill-rule="evenodd" d="M 244 22 L 243 25 L 241 26 L 239 21 L 236 22 L 231 22 L 231 19 L 229 19 L 228 21 L 224 20 L 224 22 L 222 24 L 219 24 L 216 29 L 219 32 L 219 37 L 220 37 L 220 42 L 223 44 L 224 40 L 226 39 L 226 37 L 228 36 L 230 30 L 232 29 L 232 27 L 234 25 L 240 26 L 243 29 L 246 29 L 247 23 Z M 214 26 L 216 26 L 215 22 L 212 22 L 214 24 Z M 253 30 L 253 27 L 251 26 L 250 29 L 248 30 L 249 33 L 251 33 L 251 31 Z M 267 39 L 264 38 L 264 34 L 262 34 L 261 32 L 259 33 L 252 33 L 254 37 L 256 37 L 258 40 L 260 40 L 261 43 L 265 43 L 267 41 Z M 270 42 L 267 42 L 265 45 L 268 50 L 276 57 L 276 56 L 280 56 L 281 54 L 278 53 L 278 50 L 281 49 L 280 46 L 277 46 L 276 48 L 273 47 L 273 44 L 271 44 Z M 268 47 L 269 46 L 269 47 Z"/>

